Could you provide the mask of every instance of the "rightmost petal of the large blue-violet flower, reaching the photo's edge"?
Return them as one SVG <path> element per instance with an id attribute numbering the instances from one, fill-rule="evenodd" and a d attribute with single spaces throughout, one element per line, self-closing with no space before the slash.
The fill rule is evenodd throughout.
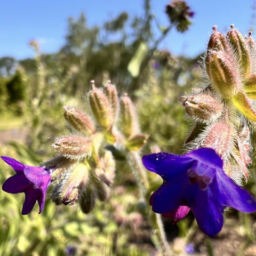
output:
<path id="1" fill-rule="evenodd" d="M 224 172 L 217 173 L 221 198 L 225 206 L 231 206 L 241 212 L 256 211 L 256 202 L 242 187 L 238 186 Z"/>

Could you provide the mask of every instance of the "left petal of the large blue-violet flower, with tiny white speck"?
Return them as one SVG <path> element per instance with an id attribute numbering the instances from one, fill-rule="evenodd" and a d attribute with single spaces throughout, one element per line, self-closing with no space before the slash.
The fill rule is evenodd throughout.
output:
<path id="1" fill-rule="evenodd" d="M 176 175 L 187 173 L 193 159 L 186 155 L 157 153 L 143 156 L 142 163 L 149 171 L 161 175 L 163 179 L 173 179 Z"/>

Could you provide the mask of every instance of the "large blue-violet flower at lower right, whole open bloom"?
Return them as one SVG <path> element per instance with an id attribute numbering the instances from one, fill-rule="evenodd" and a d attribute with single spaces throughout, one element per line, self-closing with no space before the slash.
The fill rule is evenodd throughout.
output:
<path id="1" fill-rule="evenodd" d="M 256 211 L 253 197 L 223 172 L 222 160 L 211 148 L 199 148 L 186 155 L 146 155 L 142 162 L 164 180 L 151 195 L 152 210 L 172 218 L 174 223 L 185 217 L 190 207 L 199 228 L 213 237 L 223 226 L 225 207 Z"/>

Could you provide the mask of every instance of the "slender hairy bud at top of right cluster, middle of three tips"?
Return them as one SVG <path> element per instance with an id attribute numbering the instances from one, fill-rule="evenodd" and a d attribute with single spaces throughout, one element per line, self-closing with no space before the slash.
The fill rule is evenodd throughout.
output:
<path id="1" fill-rule="evenodd" d="M 238 63 L 241 66 L 243 75 L 247 76 L 250 73 L 250 54 L 247 48 L 247 43 L 244 36 L 231 25 L 231 30 L 227 33 L 227 38 L 232 49 L 235 51 Z"/>

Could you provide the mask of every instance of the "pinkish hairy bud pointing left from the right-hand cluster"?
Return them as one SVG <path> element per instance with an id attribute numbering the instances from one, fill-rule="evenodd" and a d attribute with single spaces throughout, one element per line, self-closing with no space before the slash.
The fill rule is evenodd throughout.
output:
<path id="1" fill-rule="evenodd" d="M 217 118 L 223 110 L 223 104 L 209 94 L 189 96 L 183 102 L 183 106 L 188 115 L 202 120 Z"/>

